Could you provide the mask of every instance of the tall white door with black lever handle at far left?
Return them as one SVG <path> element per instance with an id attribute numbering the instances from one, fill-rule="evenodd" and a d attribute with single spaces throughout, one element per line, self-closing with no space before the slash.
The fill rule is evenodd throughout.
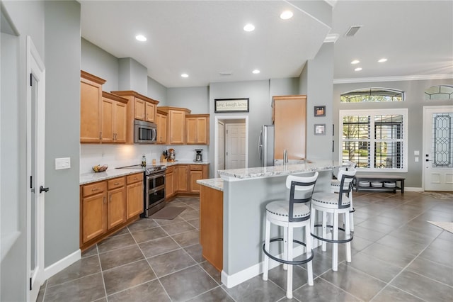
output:
<path id="1" fill-rule="evenodd" d="M 45 69 L 30 37 L 27 38 L 27 301 L 36 301 L 44 281 L 44 127 Z"/>

